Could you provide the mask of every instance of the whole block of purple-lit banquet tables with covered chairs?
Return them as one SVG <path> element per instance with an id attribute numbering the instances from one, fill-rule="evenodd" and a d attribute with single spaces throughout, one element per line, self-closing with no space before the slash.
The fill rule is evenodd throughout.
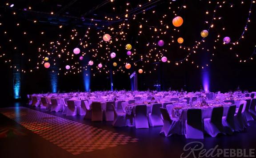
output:
<path id="1" fill-rule="evenodd" d="M 84 115 L 113 126 L 162 126 L 165 136 L 212 137 L 243 131 L 256 117 L 256 92 L 96 91 L 28 95 L 28 104 L 63 115 Z"/>

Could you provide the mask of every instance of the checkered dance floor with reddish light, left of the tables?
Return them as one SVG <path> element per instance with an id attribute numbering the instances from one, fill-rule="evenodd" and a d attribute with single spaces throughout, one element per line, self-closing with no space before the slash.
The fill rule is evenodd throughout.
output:
<path id="1" fill-rule="evenodd" d="M 0 113 L 73 155 L 138 141 L 26 107 L 2 108 Z"/>

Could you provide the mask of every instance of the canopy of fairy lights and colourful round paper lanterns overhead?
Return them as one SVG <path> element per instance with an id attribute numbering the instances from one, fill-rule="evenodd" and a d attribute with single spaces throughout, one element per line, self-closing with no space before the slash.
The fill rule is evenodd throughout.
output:
<path id="1" fill-rule="evenodd" d="M 56 26 L 56 29 L 58 28 L 62 30 L 62 33 L 57 34 L 58 36 L 56 36 L 56 40 L 51 40 L 41 44 L 37 43 L 37 45 L 40 45 L 37 47 L 37 58 L 27 56 L 28 53 L 21 53 L 21 56 L 26 56 L 26 58 L 28 58 L 28 62 L 35 60 L 34 63 L 36 63 L 36 65 L 32 65 L 30 68 L 21 67 L 19 69 L 14 66 L 12 64 L 12 58 L 8 57 L 7 53 L 0 52 L 0 59 L 3 59 L 4 63 L 8 63 L 10 68 L 14 68 L 15 71 L 21 71 L 22 73 L 40 70 L 42 67 L 50 68 L 55 66 L 58 67 L 58 75 L 61 73 L 64 75 L 79 74 L 83 73 L 83 70 L 88 69 L 92 71 L 93 76 L 101 73 L 117 74 L 118 72 L 122 74 L 127 72 L 127 74 L 130 75 L 131 69 L 140 74 L 147 74 L 152 73 L 152 71 L 156 71 L 160 63 L 175 64 L 176 66 L 182 63 L 191 63 L 198 68 L 204 69 L 204 67 L 208 67 L 213 61 L 217 44 L 224 44 L 224 47 L 225 45 L 230 45 L 229 49 L 232 50 L 233 47 L 240 43 L 240 40 L 244 39 L 252 20 L 252 8 L 253 4 L 255 4 L 254 0 L 250 1 L 248 17 L 246 19 L 244 30 L 237 40 L 232 40 L 228 36 L 221 36 L 222 32 L 226 31 L 227 28 L 221 26 L 222 29 L 218 31 L 215 26 L 218 26 L 217 21 L 223 20 L 223 17 L 217 14 L 218 10 L 221 8 L 233 8 L 234 4 L 231 4 L 228 0 L 209 0 L 208 7 L 213 8 L 213 10 L 211 11 L 206 8 L 206 20 L 204 23 L 207 27 L 206 29 L 202 29 L 200 33 L 200 40 L 195 37 L 197 40 L 193 42 L 194 44 L 192 44 L 192 46 L 186 46 L 184 45 L 184 40 L 186 39 L 180 36 L 180 32 L 183 30 L 182 25 L 186 19 L 183 19 L 180 16 L 180 12 L 187 13 L 185 10 L 189 8 L 189 6 L 186 5 L 186 0 L 182 0 L 182 2 L 180 2 L 180 6 L 173 8 L 173 4 L 178 3 L 177 1 L 170 0 L 167 2 L 161 0 L 148 0 L 148 2 L 144 4 L 136 2 L 136 7 L 134 8 L 132 7 L 132 3 L 135 2 L 127 0 L 124 2 L 126 7 L 122 14 L 115 17 L 104 17 L 107 24 L 116 21 L 115 23 L 103 25 L 97 30 L 95 28 L 99 26 L 99 22 L 91 19 L 91 24 L 88 25 L 84 34 L 83 32 L 80 33 L 78 29 L 72 28 L 70 31 L 71 33 L 67 36 L 63 33 L 68 32 L 67 30 L 64 30 L 63 25 Z M 112 8 L 113 13 L 116 13 L 117 9 L 115 7 L 115 0 L 109 0 L 109 2 L 110 3 L 106 4 Z M 245 3 L 248 2 L 245 2 L 244 0 L 240 1 L 241 5 L 244 5 Z M 14 4 L 6 3 L 6 7 L 12 8 L 13 6 Z M 157 8 L 159 6 L 166 8 L 168 12 L 162 12 L 160 14 L 157 13 Z M 26 9 L 32 11 L 32 7 L 28 7 Z M 17 16 L 17 14 L 19 14 L 19 12 L 12 12 L 12 16 Z M 48 14 L 54 15 L 54 12 L 49 12 Z M 148 18 L 148 16 L 156 14 L 159 19 L 155 20 L 154 18 Z M 208 17 L 209 15 L 212 16 L 210 20 Z M 0 18 L 3 16 L 4 15 L 1 15 Z M 35 19 L 31 23 L 39 24 L 39 21 Z M 23 26 L 21 21 L 15 25 L 19 28 Z M 0 21 L 1 32 L 4 30 L 3 35 L 8 38 L 7 42 L 13 43 L 14 49 L 19 50 L 19 47 L 15 46 L 15 41 L 8 37 L 7 27 L 8 24 L 4 24 Z M 204 47 L 203 43 L 207 42 L 207 36 L 208 34 L 211 34 L 212 28 L 215 28 L 215 31 L 218 32 L 216 40 L 214 40 L 214 46 L 213 48 Z M 137 33 L 131 33 L 131 29 L 137 30 Z M 30 34 L 29 31 L 21 33 L 23 36 Z M 41 31 L 39 34 L 44 36 L 46 32 Z M 83 36 L 80 36 L 80 34 Z M 169 37 L 168 41 L 163 40 L 166 36 Z M 31 39 L 28 40 L 28 43 L 24 44 L 32 45 L 33 43 L 36 43 L 36 40 Z M 184 55 L 182 59 L 168 59 L 168 50 L 175 46 L 181 51 L 184 51 L 182 52 Z M 2 47 L 4 46 L 0 46 L 0 50 Z M 145 50 L 142 51 L 141 47 L 144 47 Z M 235 53 L 240 63 L 245 63 L 246 61 L 253 59 L 253 56 L 256 54 L 256 46 L 253 47 L 255 48 L 252 54 L 246 59 L 240 58 L 240 55 Z M 209 53 L 210 58 L 207 63 L 200 64 L 193 59 L 193 56 L 198 54 L 197 52 L 199 50 Z M 123 53 L 125 51 L 126 54 L 121 55 L 121 52 Z M 59 65 L 61 65 L 61 67 Z M 51 71 L 54 72 L 56 70 Z"/>

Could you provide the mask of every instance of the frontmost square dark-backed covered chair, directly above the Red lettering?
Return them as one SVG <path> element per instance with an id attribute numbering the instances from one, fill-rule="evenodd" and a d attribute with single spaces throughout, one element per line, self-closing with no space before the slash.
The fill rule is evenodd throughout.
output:
<path id="1" fill-rule="evenodd" d="M 188 109 L 186 120 L 186 138 L 203 139 L 204 126 L 201 109 Z"/>

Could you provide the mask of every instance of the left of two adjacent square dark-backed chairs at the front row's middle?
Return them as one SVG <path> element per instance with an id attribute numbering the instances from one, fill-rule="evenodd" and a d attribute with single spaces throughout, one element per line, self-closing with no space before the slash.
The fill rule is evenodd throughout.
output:
<path id="1" fill-rule="evenodd" d="M 135 107 L 135 126 L 136 128 L 148 128 L 148 114 L 146 105 Z"/>

